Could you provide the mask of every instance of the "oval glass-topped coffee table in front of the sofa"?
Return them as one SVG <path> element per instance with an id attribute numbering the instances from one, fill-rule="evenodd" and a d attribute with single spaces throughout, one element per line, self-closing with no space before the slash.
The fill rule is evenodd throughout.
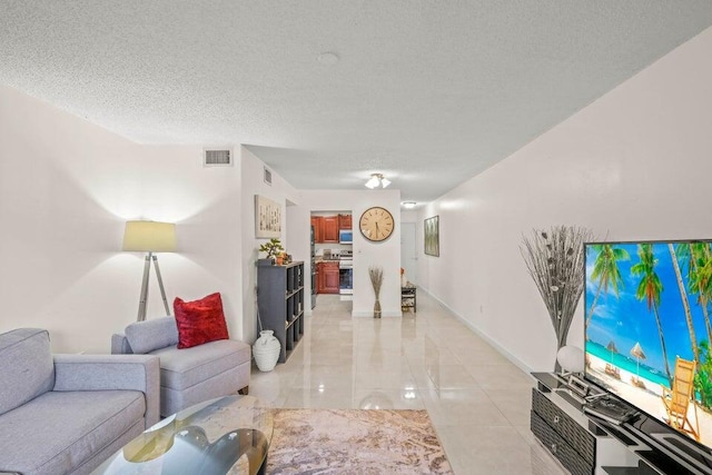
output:
<path id="1" fill-rule="evenodd" d="M 93 473 L 264 474 L 271 434 L 271 412 L 256 397 L 220 397 L 159 422 Z"/>

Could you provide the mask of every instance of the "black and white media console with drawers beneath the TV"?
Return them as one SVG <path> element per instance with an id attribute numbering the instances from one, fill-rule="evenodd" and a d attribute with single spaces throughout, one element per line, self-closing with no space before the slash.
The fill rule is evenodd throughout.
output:
<path id="1" fill-rule="evenodd" d="M 607 422 L 585 414 L 577 388 L 563 378 L 532 376 L 532 432 L 573 475 L 712 474 L 710 451 L 660 420 L 641 413 L 621 424 Z"/>

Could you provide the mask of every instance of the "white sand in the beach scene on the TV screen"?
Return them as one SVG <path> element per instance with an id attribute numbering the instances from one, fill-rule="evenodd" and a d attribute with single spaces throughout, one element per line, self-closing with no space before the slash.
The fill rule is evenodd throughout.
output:
<path id="1" fill-rule="evenodd" d="M 634 386 L 632 383 L 632 378 L 636 378 L 634 373 L 620 369 L 621 379 L 617 379 L 605 373 L 605 360 L 591 354 L 586 354 L 586 357 L 590 363 L 589 370 L 592 372 L 595 377 L 605 382 L 613 393 L 629 402 L 635 402 L 636 406 L 652 416 L 663 420 L 668 417 L 665 406 L 661 399 L 662 387 L 660 384 L 641 377 L 640 379 L 645 387 Z M 696 426 L 700 426 L 700 431 L 698 432 L 698 434 L 700 434 L 700 442 L 706 446 L 712 446 L 712 414 L 705 413 L 701 407 L 696 408 L 695 414 L 695 407 L 693 404 L 690 404 L 688 418 L 695 431 L 698 429 Z"/>

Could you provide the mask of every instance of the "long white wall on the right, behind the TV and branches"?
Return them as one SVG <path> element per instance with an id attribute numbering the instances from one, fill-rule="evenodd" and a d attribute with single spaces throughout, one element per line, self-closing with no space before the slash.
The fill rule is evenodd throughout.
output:
<path id="1" fill-rule="evenodd" d="M 421 212 L 441 257 L 418 278 L 521 366 L 548 370 L 554 331 L 518 246 L 533 227 L 601 239 L 710 238 L 712 29 Z M 583 345 L 580 309 L 570 343 Z"/>

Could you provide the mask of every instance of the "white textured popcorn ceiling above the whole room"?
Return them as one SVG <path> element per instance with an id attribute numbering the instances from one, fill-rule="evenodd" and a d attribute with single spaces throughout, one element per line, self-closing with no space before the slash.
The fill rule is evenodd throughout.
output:
<path id="1" fill-rule="evenodd" d="M 297 188 L 379 171 L 424 201 L 710 24 L 710 0 L 6 0 L 0 82 L 138 142 L 249 145 Z"/>

